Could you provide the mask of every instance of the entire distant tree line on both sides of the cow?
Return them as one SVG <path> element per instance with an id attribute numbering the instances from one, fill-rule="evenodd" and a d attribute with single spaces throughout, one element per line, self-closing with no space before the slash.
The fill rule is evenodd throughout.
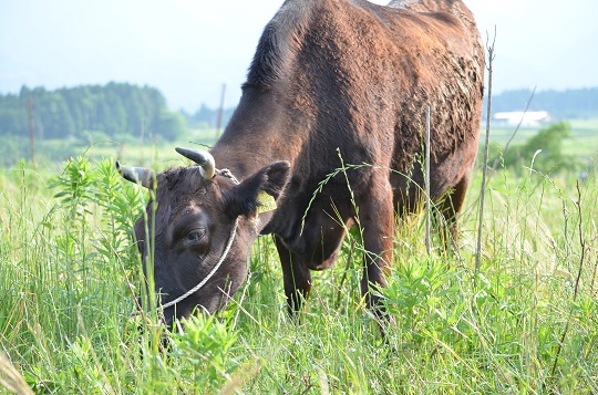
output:
<path id="1" fill-rule="evenodd" d="M 522 111 L 529 90 L 506 91 L 493 96 L 493 112 Z M 195 112 L 173 112 L 155 87 L 126 83 L 81 85 L 49 91 L 23 86 L 19 94 L 0 95 L 0 136 L 28 136 L 28 101 L 33 107 L 38 138 L 114 139 L 142 134 L 173 141 L 189 128 L 217 127 L 218 108 L 205 104 Z M 223 110 L 225 127 L 234 107 Z M 598 87 L 536 92 L 529 111 L 547 111 L 557 118 L 598 117 Z"/>

